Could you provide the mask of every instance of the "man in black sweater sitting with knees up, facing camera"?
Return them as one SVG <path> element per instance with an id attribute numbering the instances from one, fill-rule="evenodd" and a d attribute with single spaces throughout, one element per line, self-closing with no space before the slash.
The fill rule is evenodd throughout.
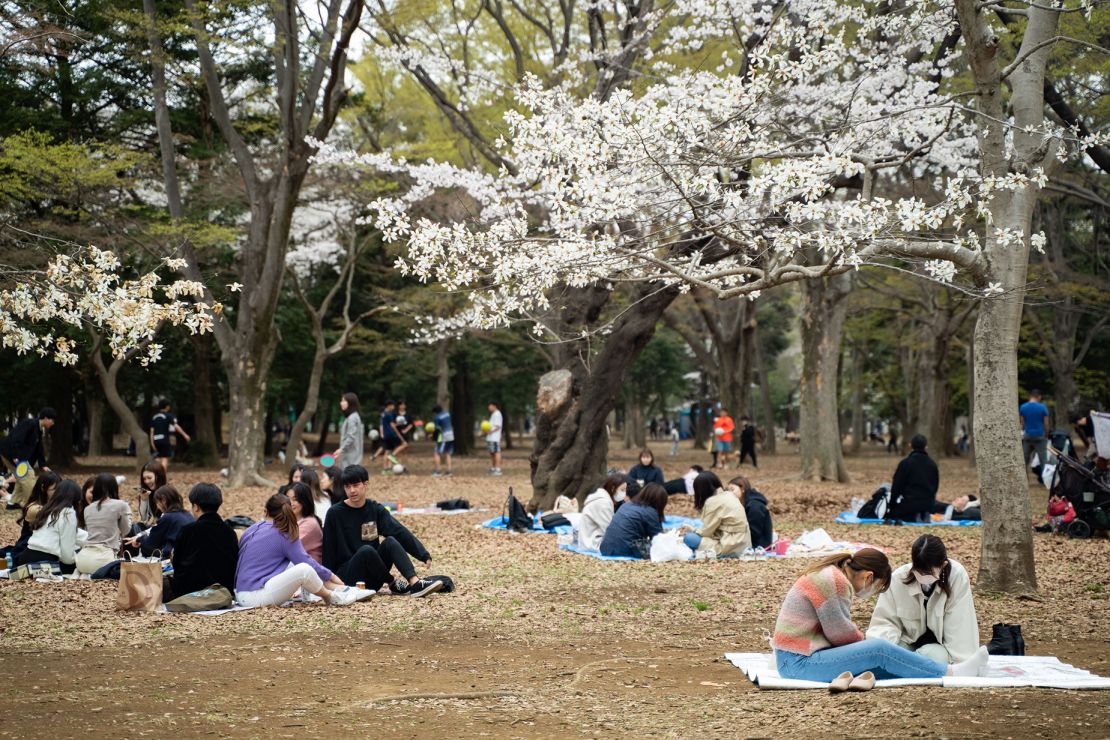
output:
<path id="1" fill-rule="evenodd" d="M 345 584 L 363 581 L 371 590 L 390 585 L 397 596 L 426 596 L 443 582 L 418 578 L 410 554 L 431 562 L 424 545 L 390 510 L 366 498 L 370 475 L 361 465 L 343 468 L 346 500 L 327 509 L 324 520 L 324 567 Z M 392 579 L 396 568 L 401 578 Z"/>

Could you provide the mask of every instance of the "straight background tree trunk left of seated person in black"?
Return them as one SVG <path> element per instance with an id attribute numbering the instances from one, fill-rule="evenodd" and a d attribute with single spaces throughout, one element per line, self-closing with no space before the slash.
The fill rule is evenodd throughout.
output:
<path id="1" fill-rule="evenodd" d="M 801 476 L 848 483 L 837 378 L 851 274 L 807 280 L 801 291 Z"/>

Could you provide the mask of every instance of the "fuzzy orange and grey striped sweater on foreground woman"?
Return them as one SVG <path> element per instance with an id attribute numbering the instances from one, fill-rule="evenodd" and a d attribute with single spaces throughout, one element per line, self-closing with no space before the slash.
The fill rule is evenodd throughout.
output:
<path id="1" fill-rule="evenodd" d="M 775 622 L 776 650 L 811 656 L 864 639 L 851 621 L 851 584 L 836 566 L 808 572 L 794 584 Z"/>

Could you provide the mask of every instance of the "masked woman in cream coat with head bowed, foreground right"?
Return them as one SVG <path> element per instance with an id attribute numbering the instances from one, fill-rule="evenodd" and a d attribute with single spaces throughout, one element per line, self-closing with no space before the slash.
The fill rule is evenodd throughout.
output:
<path id="1" fill-rule="evenodd" d="M 979 622 L 971 580 L 963 566 L 948 557 L 939 537 L 922 535 L 915 540 L 911 561 L 894 571 L 890 588 L 875 605 L 867 637 L 942 663 L 975 655 Z"/>

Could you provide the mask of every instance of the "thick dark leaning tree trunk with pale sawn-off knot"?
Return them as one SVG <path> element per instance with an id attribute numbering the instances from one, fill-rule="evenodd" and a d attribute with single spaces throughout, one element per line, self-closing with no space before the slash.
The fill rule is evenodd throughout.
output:
<path id="1" fill-rule="evenodd" d="M 583 501 L 597 487 L 608 453 L 606 418 L 616 404 L 625 374 L 677 295 L 674 286 L 645 286 L 637 296 L 642 297 L 637 308 L 618 321 L 588 368 L 575 363 L 569 371 L 554 371 L 571 373 L 565 383 L 569 387 L 563 403 L 537 398 L 529 509 L 548 509 L 561 495 Z"/>

